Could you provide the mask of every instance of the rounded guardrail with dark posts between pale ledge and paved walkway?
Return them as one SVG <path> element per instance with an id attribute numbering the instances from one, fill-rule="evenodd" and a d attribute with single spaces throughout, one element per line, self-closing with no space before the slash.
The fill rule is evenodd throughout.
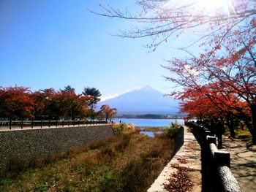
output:
<path id="1" fill-rule="evenodd" d="M 230 170 L 230 153 L 219 151 L 216 137 L 207 128 L 196 123 L 185 122 L 201 146 L 202 191 L 241 192 L 236 178 Z"/>

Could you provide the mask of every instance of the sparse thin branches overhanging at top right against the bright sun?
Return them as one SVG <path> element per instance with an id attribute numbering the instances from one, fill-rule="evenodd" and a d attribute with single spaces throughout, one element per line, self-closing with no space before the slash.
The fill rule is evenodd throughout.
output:
<path id="1" fill-rule="evenodd" d="M 219 39 L 230 38 L 238 28 L 244 28 L 240 31 L 244 34 L 246 29 L 256 26 L 255 0 L 138 0 L 137 4 L 140 10 L 136 12 L 101 5 L 104 11 L 96 14 L 132 20 L 135 26 L 129 31 L 120 31 L 118 36 L 152 37 L 147 45 L 152 49 L 189 30 L 198 34 L 192 43 L 200 40 L 208 42 L 209 39 L 214 42 L 217 34 L 221 34 Z"/>

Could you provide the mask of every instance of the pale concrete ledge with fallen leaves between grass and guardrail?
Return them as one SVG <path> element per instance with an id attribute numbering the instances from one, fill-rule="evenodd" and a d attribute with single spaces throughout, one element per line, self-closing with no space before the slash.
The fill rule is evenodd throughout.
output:
<path id="1" fill-rule="evenodd" d="M 189 174 L 189 179 L 192 181 L 193 186 L 190 191 L 201 191 L 201 155 L 200 155 L 200 145 L 198 145 L 197 140 L 194 135 L 189 132 L 188 128 L 184 126 L 184 145 L 176 153 L 176 155 L 171 159 L 171 161 L 162 170 L 157 180 L 148 189 L 148 192 L 166 191 L 164 185 L 167 184 L 170 179 L 171 174 L 177 172 L 176 168 L 173 168 L 172 164 L 179 164 L 179 166 L 186 166 L 194 169 L 192 172 L 187 172 Z M 181 160 L 186 159 L 186 164 L 181 164 Z"/>

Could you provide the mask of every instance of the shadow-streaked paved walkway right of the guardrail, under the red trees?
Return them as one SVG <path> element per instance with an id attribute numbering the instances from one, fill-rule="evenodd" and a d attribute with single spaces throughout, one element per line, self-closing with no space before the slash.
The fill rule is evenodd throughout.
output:
<path id="1" fill-rule="evenodd" d="M 256 191 L 256 146 L 247 148 L 239 139 L 223 138 L 221 151 L 230 153 L 231 172 L 236 177 L 242 191 Z"/>

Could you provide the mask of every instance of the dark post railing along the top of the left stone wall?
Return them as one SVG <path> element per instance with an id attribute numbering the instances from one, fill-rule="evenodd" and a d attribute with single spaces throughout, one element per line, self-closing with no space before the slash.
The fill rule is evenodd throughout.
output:
<path id="1" fill-rule="evenodd" d="M 69 127 L 69 126 L 87 126 L 106 124 L 103 120 L 0 120 L 1 128 L 54 128 L 54 127 Z"/>

